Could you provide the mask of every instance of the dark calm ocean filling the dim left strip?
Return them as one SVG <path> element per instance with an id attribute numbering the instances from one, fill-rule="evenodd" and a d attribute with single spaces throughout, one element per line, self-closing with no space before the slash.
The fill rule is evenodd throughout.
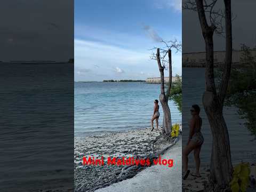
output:
<path id="1" fill-rule="evenodd" d="M 1 63 L 1 191 L 72 186 L 73 71 L 70 63 Z"/>

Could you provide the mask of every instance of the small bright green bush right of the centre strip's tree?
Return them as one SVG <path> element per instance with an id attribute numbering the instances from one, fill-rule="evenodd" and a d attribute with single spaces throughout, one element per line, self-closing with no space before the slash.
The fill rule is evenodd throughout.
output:
<path id="1" fill-rule="evenodd" d="M 169 98 L 174 101 L 175 105 L 178 106 L 178 109 L 181 113 L 182 107 L 182 84 L 181 79 L 176 75 L 177 81 L 172 83 L 171 91 Z"/>

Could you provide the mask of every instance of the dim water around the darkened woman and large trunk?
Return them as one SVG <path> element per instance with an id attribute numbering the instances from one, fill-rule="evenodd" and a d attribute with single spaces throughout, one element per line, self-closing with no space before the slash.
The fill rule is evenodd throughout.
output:
<path id="1" fill-rule="evenodd" d="M 188 139 L 188 122 L 191 118 L 191 105 L 197 104 L 201 108 L 200 116 L 203 119 L 202 133 L 204 144 L 201 150 L 201 163 L 209 164 L 211 156 L 212 135 L 210 125 L 202 105 L 202 96 L 205 91 L 204 68 L 183 68 L 182 69 L 182 139 L 183 145 L 186 145 Z M 193 86 L 191 86 L 191 82 Z M 226 120 L 229 131 L 231 158 L 234 163 L 241 161 L 255 162 L 256 160 L 256 141 L 250 135 L 250 132 L 244 126 L 244 119 L 237 114 L 237 108 L 225 107 L 223 116 Z M 189 164 L 194 166 L 193 154 L 189 156 Z"/>

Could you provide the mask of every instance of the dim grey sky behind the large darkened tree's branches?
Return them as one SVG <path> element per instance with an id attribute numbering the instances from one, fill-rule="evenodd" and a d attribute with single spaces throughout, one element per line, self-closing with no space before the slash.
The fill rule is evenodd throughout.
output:
<path id="1" fill-rule="evenodd" d="M 240 50 L 241 44 L 250 47 L 256 46 L 256 25 L 255 22 L 256 1 L 233 0 L 231 1 L 232 36 L 233 49 Z M 218 1 L 214 10 L 223 9 L 223 1 Z M 225 25 L 223 25 L 225 27 Z M 225 36 L 225 34 L 223 34 Z M 214 51 L 225 50 L 225 38 L 214 34 Z M 205 51 L 205 43 L 202 35 L 198 14 L 194 11 L 183 10 L 182 12 L 182 52 Z"/>

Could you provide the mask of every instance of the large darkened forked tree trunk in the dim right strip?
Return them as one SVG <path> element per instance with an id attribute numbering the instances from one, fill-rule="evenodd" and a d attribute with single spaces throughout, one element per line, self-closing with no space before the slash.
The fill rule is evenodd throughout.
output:
<path id="1" fill-rule="evenodd" d="M 214 190 L 225 189 L 229 187 L 231 174 L 233 171 L 230 155 L 230 143 L 228 129 L 225 119 L 222 115 L 223 102 L 227 92 L 227 85 L 230 75 L 232 39 L 231 39 L 231 6 L 230 0 L 225 0 L 226 11 L 226 63 L 223 71 L 220 92 L 217 94 L 214 83 L 214 62 L 213 62 L 213 32 L 215 26 L 207 25 L 203 0 L 196 0 L 197 12 L 205 40 L 206 68 L 205 68 L 205 93 L 203 105 L 207 118 L 209 119 L 212 132 L 212 154 L 210 167 L 210 181 L 213 186 L 217 184 Z"/>

